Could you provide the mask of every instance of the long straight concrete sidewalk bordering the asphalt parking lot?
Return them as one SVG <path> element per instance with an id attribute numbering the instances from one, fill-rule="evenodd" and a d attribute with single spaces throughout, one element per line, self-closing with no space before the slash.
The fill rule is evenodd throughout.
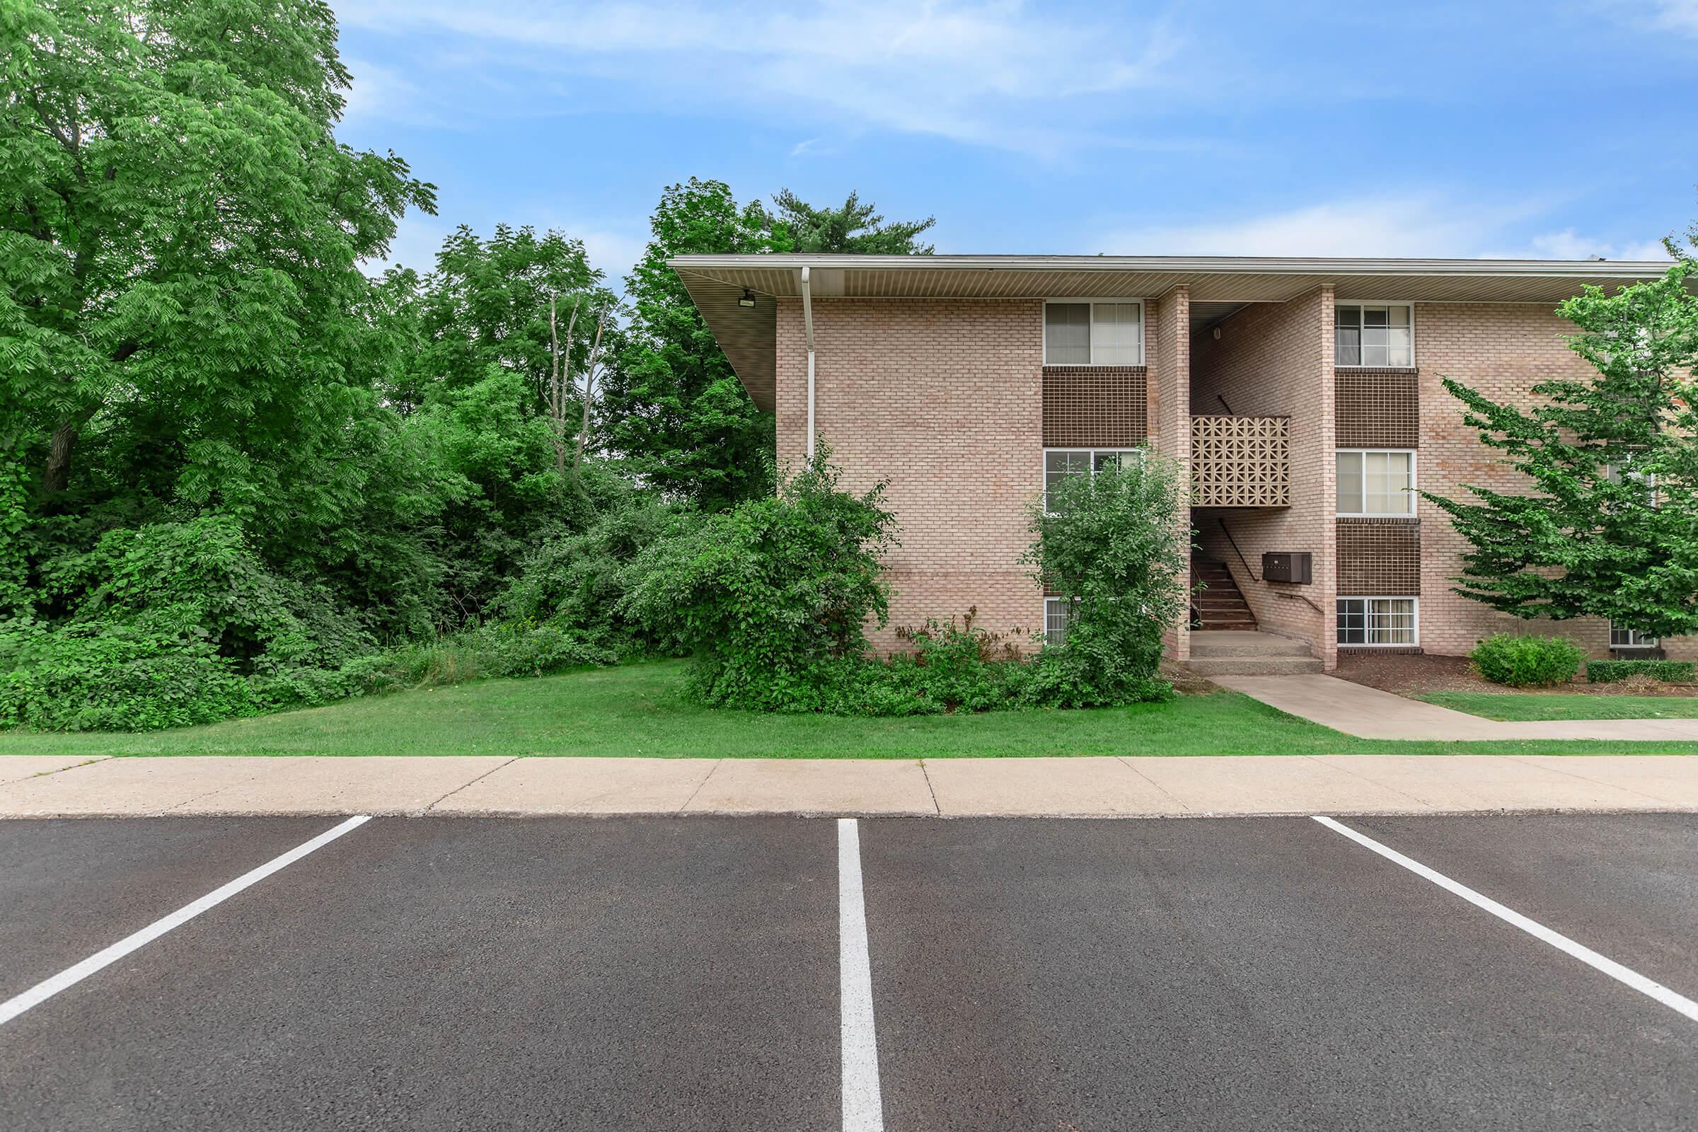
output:
<path id="1" fill-rule="evenodd" d="M 0 818 L 1698 811 L 1698 755 L 0 757 Z"/>

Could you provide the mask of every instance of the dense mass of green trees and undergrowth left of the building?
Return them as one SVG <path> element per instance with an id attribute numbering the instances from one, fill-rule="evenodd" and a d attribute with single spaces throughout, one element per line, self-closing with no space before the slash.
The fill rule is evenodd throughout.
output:
<path id="1" fill-rule="evenodd" d="M 348 81 L 316 0 L 0 7 L 0 728 L 676 652 L 628 570 L 771 494 L 773 424 L 664 260 L 929 249 L 691 180 L 623 304 L 530 227 L 374 280 L 435 190 Z"/>

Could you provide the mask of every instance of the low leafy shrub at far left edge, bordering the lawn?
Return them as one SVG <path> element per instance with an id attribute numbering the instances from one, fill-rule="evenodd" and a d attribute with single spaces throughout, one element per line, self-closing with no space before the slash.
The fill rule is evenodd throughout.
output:
<path id="1" fill-rule="evenodd" d="M 0 728 L 148 731 L 261 708 L 207 642 L 132 625 L 3 623 L 0 672 Z"/>

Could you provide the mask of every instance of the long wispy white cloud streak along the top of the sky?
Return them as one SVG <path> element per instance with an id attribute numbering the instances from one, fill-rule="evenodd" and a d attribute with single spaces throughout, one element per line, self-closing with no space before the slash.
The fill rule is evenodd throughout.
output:
<path id="1" fill-rule="evenodd" d="M 1129 36 L 1109 17 L 1087 22 L 1019 0 L 837 0 L 807 10 L 348 0 L 338 15 L 385 34 L 452 37 L 462 59 L 475 46 L 499 70 L 582 75 L 598 87 L 623 80 L 630 102 L 708 98 L 767 115 L 801 107 L 849 126 L 1020 151 L 1065 149 L 1090 134 L 1105 95 L 1184 78 L 1170 66 L 1180 41 L 1160 17 L 1141 17 Z M 1078 112 L 1061 114 L 1061 104 Z"/>

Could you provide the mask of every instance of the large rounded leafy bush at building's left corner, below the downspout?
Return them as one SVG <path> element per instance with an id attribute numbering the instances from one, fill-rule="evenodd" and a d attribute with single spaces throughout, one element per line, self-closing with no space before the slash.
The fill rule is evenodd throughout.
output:
<path id="1" fill-rule="evenodd" d="M 762 711 L 827 711 L 844 662 L 885 625 L 883 558 L 895 540 L 885 485 L 841 490 L 822 445 L 774 499 L 693 518 L 644 550 L 623 609 L 694 653 L 691 694 Z"/>

